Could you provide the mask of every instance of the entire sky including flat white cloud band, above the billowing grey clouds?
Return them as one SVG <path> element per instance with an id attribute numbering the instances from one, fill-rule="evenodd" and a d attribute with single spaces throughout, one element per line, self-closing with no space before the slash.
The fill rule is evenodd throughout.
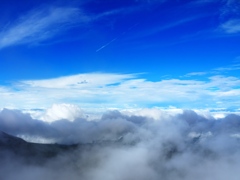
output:
<path id="1" fill-rule="evenodd" d="M 0 108 L 239 111 L 238 0 L 3 0 L 0 11 Z"/>

